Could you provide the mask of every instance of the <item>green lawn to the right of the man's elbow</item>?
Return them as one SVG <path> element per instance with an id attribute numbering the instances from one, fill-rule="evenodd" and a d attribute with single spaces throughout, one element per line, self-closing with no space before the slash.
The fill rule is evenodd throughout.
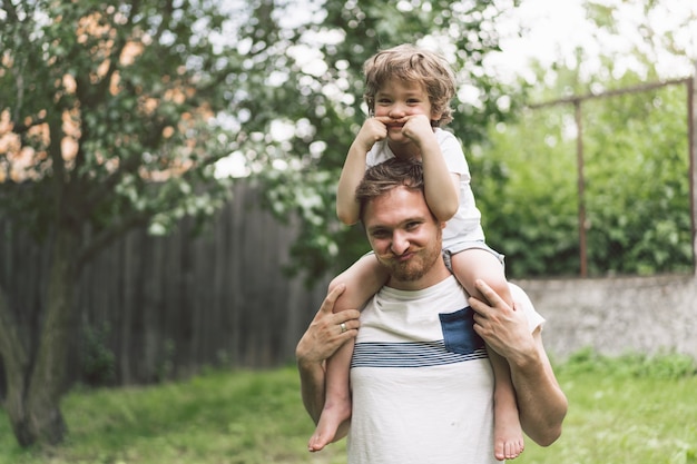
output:
<path id="1" fill-rule="evenodd" d="M 569 398 L 562 436 L 548 448 L 528 441 L 517 463 L 697 464 L 691 358 L 583 352 L 556 372 Z"/>

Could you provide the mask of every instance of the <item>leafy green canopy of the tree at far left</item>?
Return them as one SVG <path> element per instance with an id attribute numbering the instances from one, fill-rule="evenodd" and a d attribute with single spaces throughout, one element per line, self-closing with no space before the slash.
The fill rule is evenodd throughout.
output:
<path id="1" fill-rule="evenodd" d="M 218 137 L 225 129 L 210 118 L 228 109 L 217 82 L 233 76 L 216 57 L 236 52 L 209 40 L 225 20 L 216 6 L 88 0 L 2 10 L 0 111 L 20 145 L 0 151 L 0 166 L 14 171 L 19 154 L 35 155 L 0 184 L 0 214 L 31 218 L 37 231 L 67 216 L 96 230 L 155 216 L 164 230 L 183 215 L 210 215 L 229 195 L 212 165 L 234 137 Z M 27 179 L 21 195 L 12 189 Z"/>

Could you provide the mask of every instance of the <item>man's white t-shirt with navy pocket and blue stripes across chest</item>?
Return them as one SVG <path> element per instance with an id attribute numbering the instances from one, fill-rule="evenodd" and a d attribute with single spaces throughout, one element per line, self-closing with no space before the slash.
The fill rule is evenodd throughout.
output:
<path id="1" fill-rule="evenodd" d="M 519 287 L 530 329 L 543 323 Z M 493 373 L 454 277 L 383 287 L 361 314 L 351 365 L 348 464 L 494 464 Z M 446 348 L 448 346 L 448 348 Z"/>

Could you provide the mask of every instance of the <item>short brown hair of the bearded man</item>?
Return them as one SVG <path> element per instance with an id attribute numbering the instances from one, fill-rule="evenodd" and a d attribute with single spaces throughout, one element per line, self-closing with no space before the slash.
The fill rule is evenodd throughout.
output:
<path id="1" fill-rule="evenodd" d="M 390 158 L 380 165 L 370 167 L 355 192 L 356 201 L 361 205 L 361 220 L 363 220 L 365 206 L 371 200 L 402 186 L 410 190 L 423 191 L 423 166 L 421 161 L 413 158 Z"/>

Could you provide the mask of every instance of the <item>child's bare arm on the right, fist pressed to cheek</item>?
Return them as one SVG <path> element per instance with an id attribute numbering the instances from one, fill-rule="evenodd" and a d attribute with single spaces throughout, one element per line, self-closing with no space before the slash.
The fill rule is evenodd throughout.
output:
<path id="1" fill-rule="evenodd" d="M 408 117 L 403 132 L 421 150 L 426 204 L 438 220 L 449 220 L 460 206 L 460 176 L 450 172 L 431 121 L 425 115 Z"/>

